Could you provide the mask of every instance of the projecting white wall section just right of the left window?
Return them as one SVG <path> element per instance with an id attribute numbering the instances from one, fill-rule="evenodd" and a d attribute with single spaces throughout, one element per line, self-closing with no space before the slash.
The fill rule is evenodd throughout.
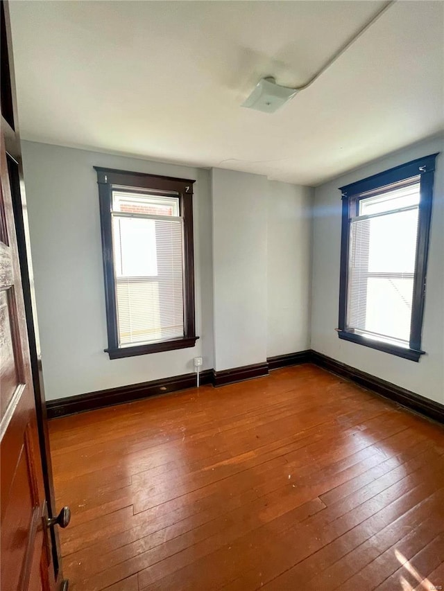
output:
<path id="1" fill-rule="evenodd" d="M 266 361 L 267 184 L 212 169 L 216 371 Z"/>

